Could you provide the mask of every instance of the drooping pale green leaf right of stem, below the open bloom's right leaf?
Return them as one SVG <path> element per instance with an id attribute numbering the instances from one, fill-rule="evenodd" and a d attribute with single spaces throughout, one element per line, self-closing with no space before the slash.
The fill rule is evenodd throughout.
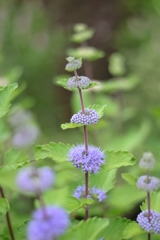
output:
<path id="1" fill-rule="evenodd" d="M 98 174 L 91 174 L 89 177 L 90 186 L 95 186 L 108 192 L 114 187 L 116 172 L 117 169 L 108 172 L 101 169 Z"/>

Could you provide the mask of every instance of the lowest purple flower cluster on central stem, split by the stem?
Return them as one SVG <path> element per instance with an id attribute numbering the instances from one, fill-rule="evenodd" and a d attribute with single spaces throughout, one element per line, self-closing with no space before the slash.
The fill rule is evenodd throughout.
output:
<path id="1" fill-rule="evenodd" d="M 78 199 L 85 197 L 85 186 L 78 186 L 74 191 L 73 196 Z M 107 195 L 104 190 L 93 187 L 89 190 L 87 198 L 97 198 L 99 202 L 103 202 L 106 200 Z"/>

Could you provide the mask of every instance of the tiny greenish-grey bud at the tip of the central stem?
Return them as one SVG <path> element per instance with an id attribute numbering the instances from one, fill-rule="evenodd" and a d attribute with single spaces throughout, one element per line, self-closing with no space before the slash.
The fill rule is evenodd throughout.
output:
<path id="1" fill-rule="evenodd" d="M 65 69 L 68 72 L 74 72 L 75 70 L 79 69 L 82 67 L 82 59 L 81 58 L 74 58 L 74 57 L 68 57 L 66 58 L 68 63 L 65 67 Z"/>

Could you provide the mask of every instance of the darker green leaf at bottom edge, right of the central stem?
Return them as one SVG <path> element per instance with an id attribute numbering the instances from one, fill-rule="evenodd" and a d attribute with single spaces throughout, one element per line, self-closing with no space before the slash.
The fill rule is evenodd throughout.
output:
<path id="1" fill-rule="evenodd" d="M 126 229 L 127 225 L 130 223 L 129 219 L 126 218 L 115 218 L 109 220 L 109 225 L 104 229 L 104 231 L 98 237 L 104 238 L 105 240 L 122 240 L 123 231 Z M 98 239 L 98 238 L 97 238 Z"/>

